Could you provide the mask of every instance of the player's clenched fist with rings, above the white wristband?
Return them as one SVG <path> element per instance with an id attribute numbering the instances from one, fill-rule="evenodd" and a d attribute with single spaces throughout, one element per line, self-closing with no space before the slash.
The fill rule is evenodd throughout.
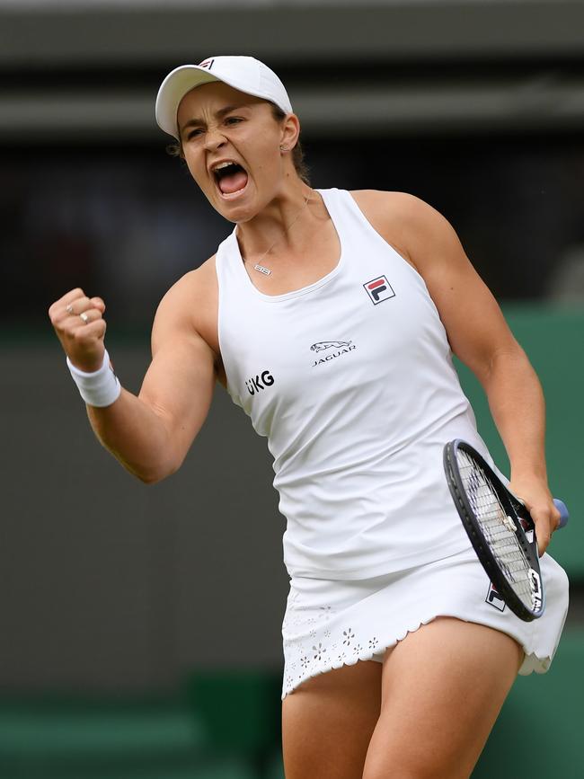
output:
<path id="1" fill-rule="evenodd" d="M 102 367 L 104 311 L 102 298 L 87 297 L 83 289 L 72 289 L 49 308 L 50 321 L 66 356 L 87 373 Z"/>

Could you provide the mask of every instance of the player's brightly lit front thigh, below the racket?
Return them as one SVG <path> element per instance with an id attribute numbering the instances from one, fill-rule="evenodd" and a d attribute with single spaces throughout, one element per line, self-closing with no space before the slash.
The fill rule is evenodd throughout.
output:
<path id="1" fill-rule="evenodd" d="M 363 779 L 466 779 L 518 673 L 505 633 L 438 617 L 387 651 Z"/>

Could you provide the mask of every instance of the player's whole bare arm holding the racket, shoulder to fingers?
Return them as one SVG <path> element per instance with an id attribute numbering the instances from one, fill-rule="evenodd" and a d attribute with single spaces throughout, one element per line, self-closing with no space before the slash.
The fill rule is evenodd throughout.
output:
<path id="1" fill-rule="evenodd" d="M 539 380 L 447 219 L 411 195 L 384 194 L 385 213 L 390 202 L 393 213 L 388 234 L 397 235 L 396 249 L 424 279 L 452 350 L 487 394 L 509 455 L 511 490 L 525 500 L 543 554 L 560 515 L 547 485 Z"/>

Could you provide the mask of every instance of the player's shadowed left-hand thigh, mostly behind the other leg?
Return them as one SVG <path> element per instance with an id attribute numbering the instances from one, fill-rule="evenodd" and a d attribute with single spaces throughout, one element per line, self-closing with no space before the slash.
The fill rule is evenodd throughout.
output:
<path id="1" fill-rule="evenodd" d="M 282 703 L 286 779 L 361 779 L 381 709 L 383 666 L 333 668 L 296 687 Z"/>

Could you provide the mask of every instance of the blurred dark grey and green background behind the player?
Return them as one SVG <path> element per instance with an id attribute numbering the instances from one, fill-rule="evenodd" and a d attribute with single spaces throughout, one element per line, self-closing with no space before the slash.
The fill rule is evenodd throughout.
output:
<path id="1" fill-rule="evenodd" d="M 181 471 L 132 481 L 95 443 L 46 316 L 68 288 L 102 295 L 137 391 L 157 301 L 232 228 L 154 121 L 164 75 L 217 53 L 282 76 L 314 187 L 444 213 L 541 377 L 571 608 L 474 776 L 584 776 L 582 30 L 575 0 L 0 0 L 2 779 L 283 776 L 288 576 L 265 441 L 218 391 Z"/>

